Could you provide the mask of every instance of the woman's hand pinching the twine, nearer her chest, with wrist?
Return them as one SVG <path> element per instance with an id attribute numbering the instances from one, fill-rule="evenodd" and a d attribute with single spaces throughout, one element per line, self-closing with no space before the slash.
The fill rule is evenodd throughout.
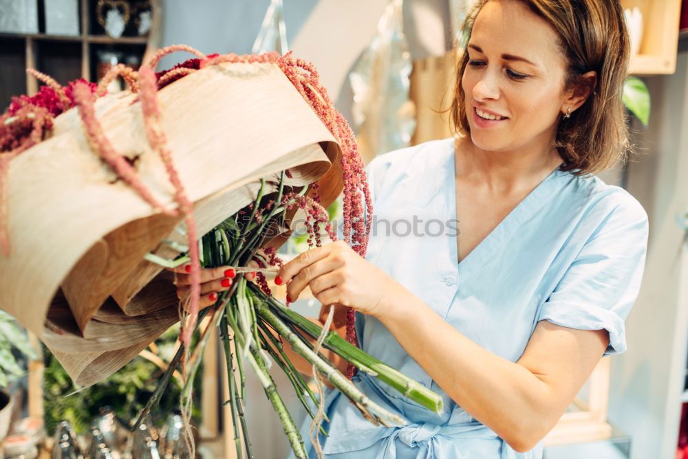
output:
<path id="1" fill-rule="evenodd" d="M 283 265 L 275 283 L 287 284 L 288 301 L 306 286 L 322 304 L 341 304 L 364 314 L 379 315 L 399 284 L 385 271 L 358 255 L 343 240 L 299 254 Z"/>

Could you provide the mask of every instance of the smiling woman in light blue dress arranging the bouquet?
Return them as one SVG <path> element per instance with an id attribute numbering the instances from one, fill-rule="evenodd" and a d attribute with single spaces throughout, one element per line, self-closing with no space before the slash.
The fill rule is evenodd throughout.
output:
<path id="1" fill-rule="evenodd" d="M 361 347 L 444 398 L 435 414 L 358 372 L 354 383 L 409 424 L 375 427 L 328 390 L 327 458 L 541 458 L 601 357 L 626 349 L 647 214 L 589 174 L 627 147 L 621 6 L 482 0 L 464 32 L 458 138 L 370 162 L 378 223 L 365 260 L 331 243 L 276 278 L 292 300 L 309 286 L 338 305 L 342 334 L 352 306 Z M 204 273 L 204 298 L 226 288 L 222 273 Z"/>

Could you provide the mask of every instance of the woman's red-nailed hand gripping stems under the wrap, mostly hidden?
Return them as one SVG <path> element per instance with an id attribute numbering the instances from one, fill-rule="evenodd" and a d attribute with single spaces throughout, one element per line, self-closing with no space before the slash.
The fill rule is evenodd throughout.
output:
<path id="1" fill-rule="evenodd" d="M 251 261 L 248 267 L 258 267 L 257 263 Z M 174 284 L 177 286 L 177 297 L 182 298 L 189 295 L 191 290 L 189 272 L 191 265 L 180 265 L 176 268 L 165 268 L 174 273 Z M 201 298 L 199 302 L 200 309 L 212 306 L 217 302 L 217 295 L 219 292 L 229 290 L 233 284 L 233 278 L 236 276 L 235 270 L 228 266 L 221 266 L 217 268 L 202 268 L 201 269 Z M 255 278 L 255 273 L 244 274 L 246 280 L 252 281 Z"/>

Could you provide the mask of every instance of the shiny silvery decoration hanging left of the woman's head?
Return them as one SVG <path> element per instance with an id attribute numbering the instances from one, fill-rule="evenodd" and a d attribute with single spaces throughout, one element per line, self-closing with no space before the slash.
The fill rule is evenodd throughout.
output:
<path id="1" fill-rule="evenodd" d="M 391 0 L 372 42 L 349 75 L 354 130 L 366 162 L 411 141 L 416 129 L 416 109 L 409 100 L 411 69 L 402 0 Z"/>

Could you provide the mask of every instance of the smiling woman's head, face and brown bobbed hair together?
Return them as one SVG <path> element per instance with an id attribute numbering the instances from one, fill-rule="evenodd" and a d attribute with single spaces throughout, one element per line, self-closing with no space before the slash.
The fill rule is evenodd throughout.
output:
<path id="1" fill-rule="evenodd" d="M 473 133 L 471 124 L 537 142 L 554 134 L 562 170 L 576 175 L 624 159 L 630 146 L 621 95 L 630 41 L 618 0 L 480 0 L 462 36 L 470 38 L 450 109 L 459 135 L 494 150 L 500 145 L 492 142 L 509 144 L 510 137 Z M 495 91 L 501 94 L 492 100 Z M 485 124 L 485 113 L 508 122 Z M 566 122 L 557 122 L 559 114 Z"/>

